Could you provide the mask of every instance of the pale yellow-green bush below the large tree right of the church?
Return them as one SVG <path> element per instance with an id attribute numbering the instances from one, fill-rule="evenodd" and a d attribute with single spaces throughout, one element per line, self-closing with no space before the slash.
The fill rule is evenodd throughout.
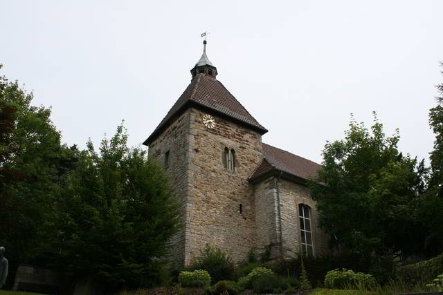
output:
<path id="1" fill-rule="evenodd" d="M 325 276 L 325 287 L 333 289 L 346 289 L 356 286 L 372 287 L 376 284 L 371 274 L 355 273 L 350 269 L 343 269 L 343 271 L 334 269 L 327 272 Z"/>

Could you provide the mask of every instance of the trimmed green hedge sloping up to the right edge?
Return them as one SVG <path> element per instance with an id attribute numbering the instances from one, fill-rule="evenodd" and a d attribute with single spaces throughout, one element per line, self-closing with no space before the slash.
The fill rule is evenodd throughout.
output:
<path id="1" fill-rule="evenodd" d="M 443 274 L 443 254 L 397 269 L 397 278 L 410 285 L 431 283 L 439 274 Z"/>

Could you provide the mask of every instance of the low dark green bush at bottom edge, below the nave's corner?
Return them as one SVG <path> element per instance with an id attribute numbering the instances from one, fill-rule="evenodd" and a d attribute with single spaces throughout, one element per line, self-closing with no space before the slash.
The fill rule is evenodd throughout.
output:
<path id="1" fill-rule="evenodd" d="M 300 286 L 295 278 L 284 278 L 275 274 L 263 274 L 258 276 L 252 284 L 255 293 L 281 293 L 287 289 L 295 289 Z"/>

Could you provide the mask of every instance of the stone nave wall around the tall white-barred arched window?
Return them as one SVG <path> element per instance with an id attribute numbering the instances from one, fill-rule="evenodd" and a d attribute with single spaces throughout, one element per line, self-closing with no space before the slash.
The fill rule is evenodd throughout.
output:
<path id="1" fill-rule="evenodd" d="M 280 192 L 280 213 L 282 216 L 282 240 L 284 256 L 293 256 L 300 249 L 300 231 L 298 221 L 298 204 L 311 207 L 311 229 L 314 255 L 327 251 L 327 236 L 318 228 L 316 204 L 310 198 L 309 189 L 301 184 L 288 180 L 278 180 Z"/>

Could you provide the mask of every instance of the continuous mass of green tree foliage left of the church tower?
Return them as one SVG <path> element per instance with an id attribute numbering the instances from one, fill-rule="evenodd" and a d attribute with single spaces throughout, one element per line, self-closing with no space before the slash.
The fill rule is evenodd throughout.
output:
<path id="1" fill-rule="evenodd" d="M 127 147 L 123 126 L 99 151 L 91 142 L 86 151 L 62 145 L 51 110 L 32 99 L 0 77 L 0 245 L 10 280 L 30 263 L 108 287 L 157 283 L 179 227 L 165 173 Z"/>

